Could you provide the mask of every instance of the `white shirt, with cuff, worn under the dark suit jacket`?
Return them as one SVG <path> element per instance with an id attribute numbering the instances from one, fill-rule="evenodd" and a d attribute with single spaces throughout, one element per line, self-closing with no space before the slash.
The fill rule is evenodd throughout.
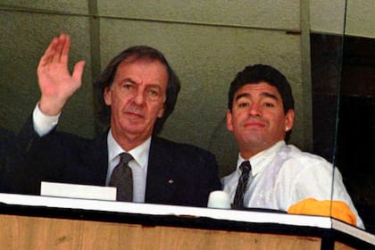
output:
<path id="1" fill-rule="evenodd" d="M 48 134 L 57 125 L 60 118 L 60 114 L 55 116 L 48 116 L 40 111 L 38 104 L 33 112 L 33 125 L 34 129 L 39 135 L 43 137 Z M 114 167 L 120 162 L 119 154 L 126 152 L 112 137 L 112 131 L 110 129 L 107 137 L 108 146 L 108 171 L 105 180 L 105 185 L 108 186 L 109 179 Z M 129 162 L 129 167 L 133 172 L 133 202 L 144 203 L 146 195 L 146 177 L 147 177 L 147 165 L 148 165 L 148 154 L 151 146 L 151 137 L 148 137 L 146 141 L 131 149 L 129 153 L 133 156 L 133 160 Z"/>

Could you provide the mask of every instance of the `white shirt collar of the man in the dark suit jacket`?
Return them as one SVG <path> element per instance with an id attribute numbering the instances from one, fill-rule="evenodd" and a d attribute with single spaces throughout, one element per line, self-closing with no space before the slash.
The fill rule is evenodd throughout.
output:
<path id="1" fill-rule="evenodd" d="M 119 154 L 126 152 L 122 147 L 116 142 L 112 136 L 112 129 L 108 132 L 107 137 L 108 144 L 108 162 L 112 162 Z M 148 153 L 151 146 L 151 137 L 148 137 L 144 143 L 135 148 L 131 149 L 129 153 L 133 156 L 134 160 L 139 166 L 145 167 L 148 163 Z"/>

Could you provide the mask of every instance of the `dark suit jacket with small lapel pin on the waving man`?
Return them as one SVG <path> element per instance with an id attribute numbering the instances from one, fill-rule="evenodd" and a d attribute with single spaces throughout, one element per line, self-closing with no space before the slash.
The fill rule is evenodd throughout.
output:
<path id="1" fill-rule="evenodd" d="M 28 121 L 20 137 L 28 157 L 23 193 L 38 195 L 41 180 L 105 186 L 107 133 L 87 139 L 54 130 L 38 137 Z M 213 154 L 152 137 L 146 203 L 206 206 L 210 192 L 218 189 L 221 183 Z"/>

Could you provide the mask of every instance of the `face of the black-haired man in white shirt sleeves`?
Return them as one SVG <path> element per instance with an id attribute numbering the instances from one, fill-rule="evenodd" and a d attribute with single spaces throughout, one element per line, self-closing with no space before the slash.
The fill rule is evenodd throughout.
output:
<path id="1" fill-rule="evenodd" d="M 284 113 L 276 87 L 266 82 L 246 84 L 239 88 L 227 112 L 227 127 L 236 137 L 242 157 L 254 154 L 285 138 L 293 127 L 295 113 Z"/>

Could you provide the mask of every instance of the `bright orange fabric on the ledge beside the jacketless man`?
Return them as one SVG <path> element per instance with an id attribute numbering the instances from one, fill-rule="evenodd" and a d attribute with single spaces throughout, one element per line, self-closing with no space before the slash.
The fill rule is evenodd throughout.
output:
<path id="1" fill-rule="evenodd" d="M 291 205 L 287 209 L 287 213 L 331 216 L 356 226 L 354 213 L 346 203 L 340 201 L 318 201 L 313 198 L 307 198 Z"/>

